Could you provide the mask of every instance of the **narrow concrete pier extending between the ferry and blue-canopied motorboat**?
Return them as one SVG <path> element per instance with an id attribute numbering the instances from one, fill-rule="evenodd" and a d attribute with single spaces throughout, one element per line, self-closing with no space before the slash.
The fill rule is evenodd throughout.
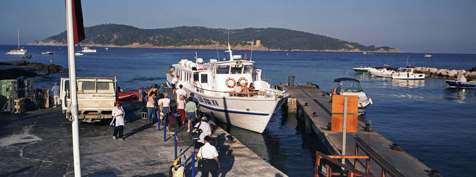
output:
<path id="1" fill-rule="evenodd" d="M 341 155 L 342 153 L 342 132 L 332 132 L 328 130 L 328 123 L 331 122 L 332 102 L 331 97 L 323 94 L 314 85 L 285 86 L 291 94 L 290 98 L 296 99 L 298 118 L 304 118 L 309 123 L 309 128 L 314 130 L 321 141 L 326 144 L 330 155 Z M 289 104 L 289 103 L 288 103 Z M 428 176 L 432 174 L 430 168 L 418 159 L 408 154 L 404 150 L 397 148 L 394 150 L 392 142 L 372 128 L 365 131 L 365 123 L 358 121 L 357 132 L 347 132 L 346 154 L 355 154 L 355 142 L 358 141 L 368 148 L 371 155 L 377 160 L 386 164 L 388 169 L 396 176 Z M 308 125 L 306 125 L 308 126 Z M 366 155 L 359 150 L 359 155 Z M 340 161 L 340 160 L 339 160 Z M 353 166 L 354 160 L 346 160 L 346 164 Z M 358 169 L 365 171 L 365 160 L 360 161 Z M 370 161 L 370 172 L 380 176 L 382 168 Z M 387 173 L 388 175 L 388 173 Z"/>

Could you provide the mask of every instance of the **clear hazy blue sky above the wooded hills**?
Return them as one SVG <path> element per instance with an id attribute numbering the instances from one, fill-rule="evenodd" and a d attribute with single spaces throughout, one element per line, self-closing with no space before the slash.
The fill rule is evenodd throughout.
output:
<path id="1" fill-rule="evenodd" d="M 476 0 L 82 0 L 84 26 L 281 27 L 404 52 L 476 53 Z M 0 0 L 0 44 L 66 30 L 64 0 Z M 87 36 L 86 36 L 87 37 Z"/>

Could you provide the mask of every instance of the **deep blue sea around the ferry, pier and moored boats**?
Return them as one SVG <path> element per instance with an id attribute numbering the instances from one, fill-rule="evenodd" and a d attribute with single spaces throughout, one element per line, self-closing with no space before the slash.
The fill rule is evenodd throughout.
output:
<path id="1" fill-rule="evenodd" d="M 17 45 L 0 45 L 7 52 Z M 68 67 L 66 46 L 25 45 L 26 54 L 0 54 L 0 61 L 28 60 Z M 116 77 L 118 85 L 126 91 L 165 83 L 169 66 L 180 59 L 198 57 L 226 58 L 220 50 L 157 49 L 91 47 L 95 53 L 76 56 L 78 77 Z M 81 50 L 80 47 L 75 48 Z M 54 55 L 41 52 L 54 51 Z M 476 66 L 476 54 L 431 53 L 367 53 L 319 51 L 244 51 L 236 50 L 256 61 L 263 70 L 262 76 L 272 83 L 288 83 L 296 76 L 297 84 L 313 83 L 323 91 L 331 91 L 333 80 L 339 77 L 356 78 L 372 98 L 366 120 L 371 127 L 431 169 L 443 176 L 472 176 L 476 173 L 476 90 L 450 88 L 443 78 L 426 77 L 424 80 L 397 80 L 356 74 L 351 68 L 358 66 L 436 67 L 468 70 Z M 68 72 L 37 76 L 37 88 L 49 88 Z M 275 113 L 263 133 L 220 124 L 260 157 L 290 176 L 314 174 L 315 151 L 326 153 L 317 134 L 306 130 L 304 123 L 285 108 Z"/>

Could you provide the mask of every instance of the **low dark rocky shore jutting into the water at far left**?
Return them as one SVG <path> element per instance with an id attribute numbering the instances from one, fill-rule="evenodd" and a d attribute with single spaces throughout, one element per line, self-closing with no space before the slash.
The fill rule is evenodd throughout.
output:
<path id="1" fill-rule="evenodd" d="M 68 69 L 61 67 L 60 65 L 56 64 L 43 64 L 38 62 L 29 62 L 26 60 L 18 60 L 18 61 L 8 61 L 8 62 L 0 62 L 0 65 L 16 65 L 16 66 L 26 66 L 31 69 L 37 70 L 38 72 L 30 71 L 22 69 L 21 67 L 18 68 L 8 68 L 8 69 L 0 69 L 0 80 L 3 79 L 17 79 L 18 77 L 35 77 L 38 75 L 47 75 L 50 73 L 55 72 L 67 72 Z"/>

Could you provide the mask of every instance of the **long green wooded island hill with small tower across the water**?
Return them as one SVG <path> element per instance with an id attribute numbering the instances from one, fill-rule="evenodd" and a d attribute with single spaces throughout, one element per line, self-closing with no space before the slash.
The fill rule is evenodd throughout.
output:
<path id="1" fill-rule="evenodd" d="M 135 46 L 193 48 L 209 45 L 214 49 L 215 43 L 227 44 L 228 30 L 201 26 L 179 26 L 171 28 L 141 29 L 123 24 L 100 24 L 85 27 L 86 39 L 81 45 L 91 46 Z M 260 40 L 256 49 L 295 49 L 295 50 L 338 50 L 338 51 L 376 51 L 401 52 L 387 46 L 365 46 L 357 42 L 348 42 L 324 35 L 285 28 L 244 28 L 230 29 L 229 40 L 232 46 L 251 47 L 251 42 Z M 66 31 L 44 38 L 39 45 L 66 44 Z"/>

